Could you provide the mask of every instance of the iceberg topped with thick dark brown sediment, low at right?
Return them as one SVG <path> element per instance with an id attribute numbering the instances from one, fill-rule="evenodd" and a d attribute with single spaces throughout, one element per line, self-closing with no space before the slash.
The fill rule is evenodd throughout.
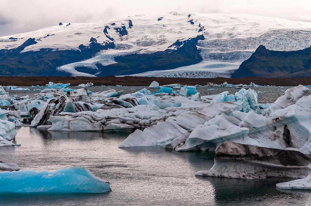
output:
<path id="1" fill-rule="evenodd" d="M 298 151 L 225 141 L 216 150 L 214 166 L 196 175 L 239 179 L 305 178 L 311 173 L 310 165 L 311 158 Z"/>

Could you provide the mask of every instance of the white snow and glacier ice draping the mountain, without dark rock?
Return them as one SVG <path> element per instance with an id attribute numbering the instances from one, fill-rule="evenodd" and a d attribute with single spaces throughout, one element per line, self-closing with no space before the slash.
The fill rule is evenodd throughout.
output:
<path id="1" fill-rule="evenodd" d="M 309 22 L 254 15 L 177 11 L 161 15 L 161 20 L 158 20 L 158 17 L 136 15 L 100 23 L 72 23 L 70 26 L 64 23 L 23 34 L 0 37 L 0 49 L 17 48 L 29 38 L 34 38 L 37 43 L 26 46 L 22 53 L 36 52 L 40 49 L 81 52 L 79 45 L 89 44 L 91 38 L 95 38 L 98 43 L 113 42 L 113 49 L 100 51 L 91 58 L 61 65 L 56 69 L 71 76 L 96 77 L 100 75 L 100 66 L 117 63 L 114 60 L 116 56 L 165 51 L 179 40 L 202 34 L 204 40 L 200 40 L 196 45 L 202 57 L 200 63 L 132 75 L 215 78 L 230 77 L 259 45 L 264 45 L 269 50 L 293 51 L 309 47 L 311 41 Z M 129 19 L 132 22 L 131 28 Z M 124 25 L 127 35 L 122 36 L 116 29 L 121 29 Z M 83 67 L 88 68 L 89 73 L 79 70 Z"/>

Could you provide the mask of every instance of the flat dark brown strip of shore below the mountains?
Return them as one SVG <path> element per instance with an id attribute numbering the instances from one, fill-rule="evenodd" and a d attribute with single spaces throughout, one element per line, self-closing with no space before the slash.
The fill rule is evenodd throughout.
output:
<path id="1" fill-rule="evenodd" d="M 53 83 L 70 83 L 70 86 L 78 84 L 86 84 L 91 82 L 94 86 L 149 86 L 152 81 L 158 82 L 160 85 L 179 83 L 182 85 L 206 85 L 207 82 L 221 84 L 227 81 L 230 84 L 247 84 L 251 82 L 258 85 L 272 86 L 298 86 L 311 84 L 311 77 L 300 78 L 262 78 L 262 77 L 244 77 L 244 78 L 163 78 L 163 77 L 6 77 L 0 76 L 0 85 L 2 86 L 44 86 L 49 82 Z"/>

